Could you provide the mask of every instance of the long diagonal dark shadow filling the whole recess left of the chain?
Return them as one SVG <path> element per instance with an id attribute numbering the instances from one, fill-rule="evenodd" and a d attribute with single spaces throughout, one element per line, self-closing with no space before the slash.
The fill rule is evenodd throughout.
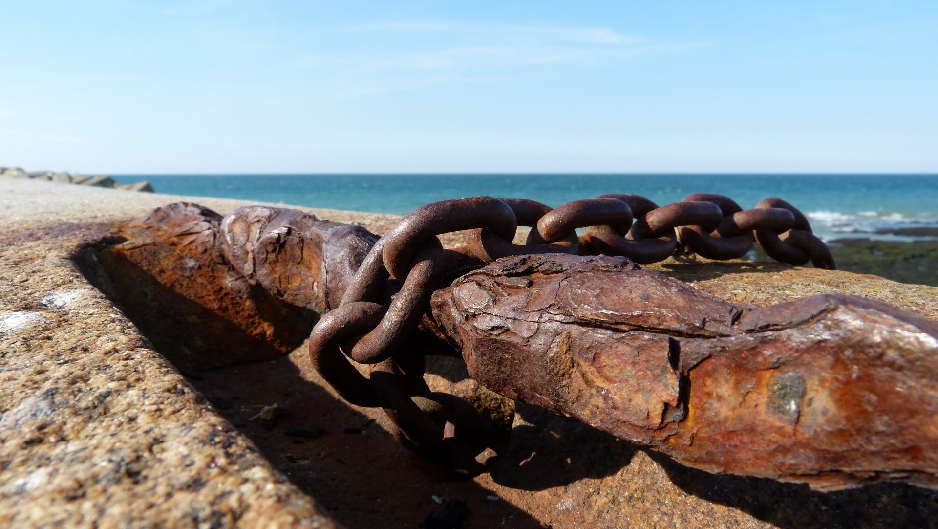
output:
<path id="1" fill-rule="evenodd" d="M 305 347 L 282 355 L 181 294 L 176 285 L 164 284 L 123 256 L 103 251 L 124 241 L 98 239 L 73 260 L 221 416 L 337 521 L 351 528 L 418 527 L 428 525 L 428 517 L 459 512 L 468 514 L 460 525 L 468 529 L 541 526 L 517 506 L 492 501 L 492 492 L 476 482 L 457 480 L 444 467 L 405 449 L 376 423 L 374 417 L 384 418 L 380 409 L 369 416 L 333 397 L 311 370 Z M 309 326 L 303 330 L 306 334 Z M 216 357 L 213 351 L 219 348 L 211 340 L 219 336 L 264 360 L 198 370 L 206 363 L 238 360 L 231 351 L 228 357 Z M 273 407 L 269 419 L 259 416 L 265 407 Z"/>

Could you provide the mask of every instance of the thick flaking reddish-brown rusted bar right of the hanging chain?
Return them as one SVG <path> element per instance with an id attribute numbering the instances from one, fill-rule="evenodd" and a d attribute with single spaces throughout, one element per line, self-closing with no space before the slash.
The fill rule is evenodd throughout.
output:
<path id="1" fill-rule="evenodd" d="M 508 257 L 433 295 L 469 373 L 712 473 L 938 488 L 938 324 L 850 295 L 768 308 L 621 257 Z"/>

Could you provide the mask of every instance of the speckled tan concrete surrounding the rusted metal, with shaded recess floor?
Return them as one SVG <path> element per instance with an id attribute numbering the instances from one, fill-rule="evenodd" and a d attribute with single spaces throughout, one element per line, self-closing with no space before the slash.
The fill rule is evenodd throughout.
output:
<path id="1" fill-rule="evenodd" d="M 938 520 L 933 491 L 877 485 L 824 494 L 767 479 L 712 476 L 532 406 L 519 406 L 511 450 L 492 475 L 462 483 L 421 474 L 427 465 L 390 442 L 380 410 L 292 407 L 287 424 L 315 424 L 339 416 L 338 409 L 374 419 L 368 435 L 327 433 L 309 444 L 295 444 L 276 425 L 267 431 L 256 421 L 242 424 L 249 412 L 219 411 L 193 385 L 216 399 L 256 391 L 256 400 L 307 385 L 332 401 L 302 347 L 273 362 L 187 379 L 70 260 L 83 241 L 104 233 L 101 223 L 180 200 L 221 214 L 245 204 L 0 181 L 0 527 L 336 526 L 312 497 L 320 494 L 327 505 L 374 513 L 342 518 L 353 527 L 416 526 L 420 509 L 435 508 L 430 493 L 468 491 L 481 499 L 470 503 L 467 528 L 928 527 Z M 375 233 L 394 220 L 305 210 L 357 221 Z M 82 224 L 63 225 L 68 222 Z M 932 287 L 775 264 L 649 267 L 734 303 L 848 293 L 938 319 Z M 443 364 L 431 367 L 434 388 L 475 391 L 472 381 L 453 382 L 461 378 L 457 366 Z M 280 458 L 284 446 L 296 457 Z M 340 457 L 317 459 L 327 450 Z M 355 450 L 367 457 L 357 458 Z M 376 501 L 356 489 L 379 485 Z M 485 494 L 501 502 L 485 503 Z M 342 498 L 347 503 L 337 503 Z M 504 506 L 497 517 L 483 512 L 490 504 Z"/>

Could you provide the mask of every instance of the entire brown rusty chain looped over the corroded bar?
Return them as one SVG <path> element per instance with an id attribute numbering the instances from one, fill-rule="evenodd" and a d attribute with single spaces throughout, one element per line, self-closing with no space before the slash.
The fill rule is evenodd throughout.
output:
<path id="1" fill-rule="evenodd" d="M 532 228 L 523 245 L 512 242 L 519 225 Z M 464 248 L 443 249 L 436 235 L 451 232 L 462 233 Z M 344 400 L 383 408 L 403 446 L 475 476 L 507 446 L 507 436 L 468 402 L 432 392 L 423 379 L 424 357 L 408 347 L 421 319 L 429 317 L 431 295 L 456 264 L 535 253 L 620 255 L 650 264 L 682 250 L 727 260 L 746 255 L 753 241 L 781 263 L 835 266 L 808 219 L 778 198 L 748 210 L 712 193 L 663 206 L 633 194 L 604 194 L 553 209 L 487 196 L 427 204 L 374 245 L 340 306 L 313 327 L 310 359 Z M 369 376 L 349 359 L 371 365 Z"/>

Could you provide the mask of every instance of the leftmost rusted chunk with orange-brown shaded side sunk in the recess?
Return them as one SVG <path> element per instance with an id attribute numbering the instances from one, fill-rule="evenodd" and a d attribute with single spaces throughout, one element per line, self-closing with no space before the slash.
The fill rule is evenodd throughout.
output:
<path id="1" fill-rule="evenodd" d="M 228 262 L 220 223 L 201 205 L 170 204 L 79 256 L 89 280 L 183 370 L 285 355 L 314 323 L 310 310 L 251 284 Z"/>

